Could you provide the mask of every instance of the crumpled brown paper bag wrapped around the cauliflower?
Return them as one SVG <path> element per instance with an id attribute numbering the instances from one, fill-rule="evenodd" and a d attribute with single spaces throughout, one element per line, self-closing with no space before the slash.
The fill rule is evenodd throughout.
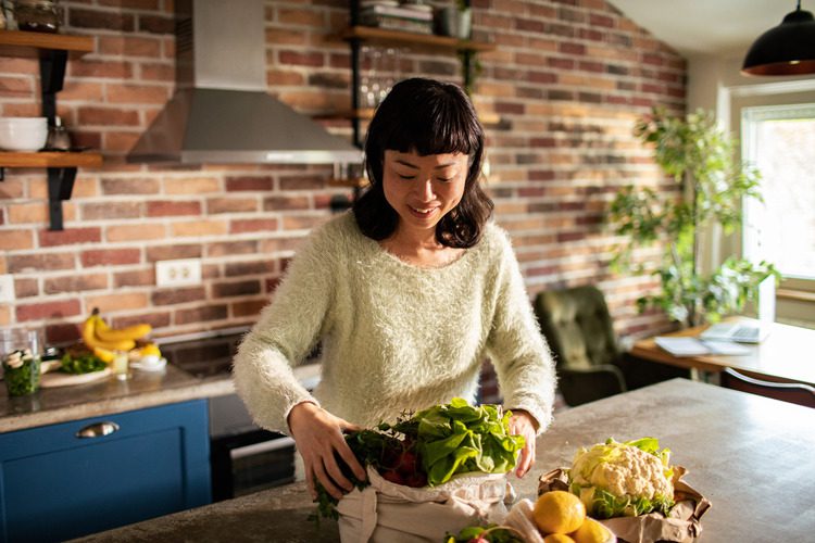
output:
<path id="1" fill-rule="evenodd" d="M 599 521 L 613 531 L 619 541 L 627 543 L 694 542 L 702 533 L 701 518 L 711 507 L 711 503 L 682 481 L 685 473 L 684 467 L 674 466 L 676 505 L 670 509 L 668 517 L 659 513 L 649 513 L 638 517 L 616 517 Z M 568 476 L 565 468 L 553 469 L 540 476 L 538 495 L 552 490 L 568 490 Z"/>

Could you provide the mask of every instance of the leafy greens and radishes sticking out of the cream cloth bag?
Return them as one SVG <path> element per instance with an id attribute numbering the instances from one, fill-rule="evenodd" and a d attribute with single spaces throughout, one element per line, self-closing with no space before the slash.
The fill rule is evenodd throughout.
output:
<path id="1" fill-rule="evenodd" d="M 384 479 L 413 488 L 437 485 L 465 472 L 505 473 L 515 467 L 524 446 L 522 435 L 510 435 L 510 416 L 494 405 L 472 406 L 461 397 L 394 424 L 352 431 L 346 442 L 363 466 L 373 466 Z M 343 473 L 358 489 L 358 480 L 343 462 Z M 338 518 L 337 501 L 317 482 L 317 510 Z"/>

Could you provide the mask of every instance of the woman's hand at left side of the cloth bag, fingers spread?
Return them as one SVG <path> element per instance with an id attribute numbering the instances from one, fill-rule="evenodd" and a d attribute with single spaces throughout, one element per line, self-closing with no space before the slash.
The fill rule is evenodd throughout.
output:
<path id="1" fill-rule="evenodd" d="M 289 429 L 297 443 L 297 450 L 303 457 L 305 482 L 312 498 L 317 497 L 315 478 L 337 500 L 342 497 L 343 490 L 353 490 L 353 483 L 342 475 L 335 453 L 351 468 L 358 479 L 365 480 L 365 470 L 342 437 L 342 430 L 359 430 L 358 426 L 335 417 L 311 402 L 303 402 L 289 412 Z"/>

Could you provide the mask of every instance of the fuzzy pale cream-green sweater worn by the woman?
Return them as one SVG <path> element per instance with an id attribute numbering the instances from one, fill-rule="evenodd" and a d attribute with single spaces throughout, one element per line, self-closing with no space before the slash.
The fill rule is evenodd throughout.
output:
<path id="1" fill-rule="evenodd" d="M 318 341 L 314 397 L 291 371 Z M 538 329 L 507 236 L 490 223 L 477 245 L 442 267 L 391 255 L 346 213 L 297 252 L 234 364 L 254 420 L 288 432 L 289 411 L 312 400 L 373 427 L 403 411 L 474 401 L 481 362 L 492 359 L 507 408 L 551 421 L 554 365 Z"/>

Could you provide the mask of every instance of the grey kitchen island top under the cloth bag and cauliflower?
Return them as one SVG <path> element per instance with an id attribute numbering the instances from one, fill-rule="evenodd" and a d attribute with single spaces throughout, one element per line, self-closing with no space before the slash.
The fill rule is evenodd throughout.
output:
<path id="1" fill-rule="evenodd" d="M 559 413 L 537 441 L 519 497 L 538 477 L 568 466 L 577 447 L 609 437 L 660 439 L 686 480 L 711 503 L 700 541 L 808 541 L 815 530 L 815 411 L 684 379 Z M 87 536 L 85 542 L 338 541 L 336 522 L 314 513 L 304 483 L 293 483 Z"/>

